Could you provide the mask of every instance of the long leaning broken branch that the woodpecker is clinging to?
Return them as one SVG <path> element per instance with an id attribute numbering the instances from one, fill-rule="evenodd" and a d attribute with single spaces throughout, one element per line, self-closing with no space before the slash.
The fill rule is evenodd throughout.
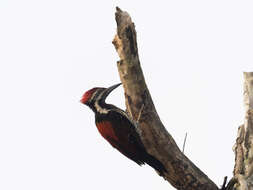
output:
<path id="1" fill-rule="evenodd" d="M 178 190 L 218 190 L 178 148 L 156 112 L 141 69 L 134 23 L 129 14 L 116 9 L 117 34 L 113 44 L 119 54 L 118 71 L 125 91 L 127 112 L 138 120 L 147 151 L 167 169 L 163 176 Z"/>

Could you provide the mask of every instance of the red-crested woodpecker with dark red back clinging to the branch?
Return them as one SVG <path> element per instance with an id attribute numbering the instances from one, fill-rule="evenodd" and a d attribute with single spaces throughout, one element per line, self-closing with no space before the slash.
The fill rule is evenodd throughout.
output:
<path id="1" fill-rule="evenodd" d="M 84 93 L 81 103 L 95 113 L 95 124 L 100 134 L 119 152 L 138 165 L 147 163 L 161 176 L 166 171 L 163 164 L 150 155 L 140 138 L 136 123 L 120 108 L 105 103 L 107 96 L 121 83 L 109 88 L 92 88 Z"/>

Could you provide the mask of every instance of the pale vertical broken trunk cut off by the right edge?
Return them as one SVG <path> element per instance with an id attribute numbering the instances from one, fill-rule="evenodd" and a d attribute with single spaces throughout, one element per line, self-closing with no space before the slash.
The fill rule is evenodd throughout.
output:
<path id="1" fill-rule="evenodd" d="M 234 178 L 237 190 L 253 190 L 253 72 L 244 73 L 244 125 L 235 144 Z"/>

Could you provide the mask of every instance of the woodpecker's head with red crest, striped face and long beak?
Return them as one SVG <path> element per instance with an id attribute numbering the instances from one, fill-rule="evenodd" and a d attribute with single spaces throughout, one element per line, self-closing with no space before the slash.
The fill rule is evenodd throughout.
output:
<path id="1" fill-rule="evenodd" d="M 119 85 L 121 85 L 121 83 L 115 84 L 109 88 L 101 88 L 101 87 L 92 88 L 84 93 L 80 102 L 91 108 L 94 106 L 96 102 L 104 103 L 106 97 Z"/>

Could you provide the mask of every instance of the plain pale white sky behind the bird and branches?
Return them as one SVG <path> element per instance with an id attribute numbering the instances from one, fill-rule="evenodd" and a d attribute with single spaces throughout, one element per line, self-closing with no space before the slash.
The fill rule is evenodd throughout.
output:
<path id="1" fill-rule="evenodd" d="M 98 133 L 79 100 L 120 82 L 115 7 L 130 13 L 169 133 L 217 185 L 232 176 L 253 71 L 253 1 L 0 1 L 0 189 L 173 189 Z M 108 101 L 124 109 L 122 87 Z"/>

